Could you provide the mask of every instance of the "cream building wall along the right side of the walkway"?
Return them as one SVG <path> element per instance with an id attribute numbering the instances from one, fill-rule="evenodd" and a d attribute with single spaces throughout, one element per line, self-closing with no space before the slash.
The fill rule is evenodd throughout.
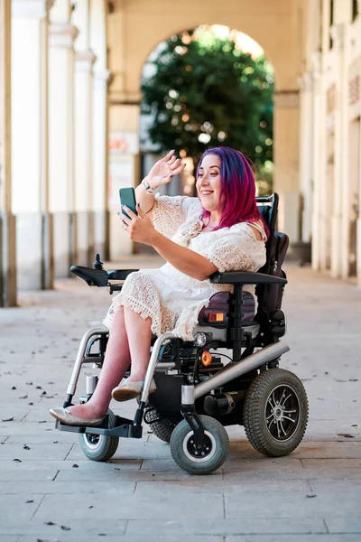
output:
<path id="1" fill-rule="evenodd" d="M 302 11 L 301 238 L 315 269 L 361 285 L 361 2 Z"/>

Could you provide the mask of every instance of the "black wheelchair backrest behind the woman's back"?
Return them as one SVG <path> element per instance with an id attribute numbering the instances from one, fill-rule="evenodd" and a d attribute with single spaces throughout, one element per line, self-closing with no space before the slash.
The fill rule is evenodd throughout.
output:
<path id="1" fill-rule="evenodd" d="M 286 274 L 282 270 L 282 264 L 287 253 L 289 238 L 286 234 L 276 231 L 278 213 L 278 194 L 274 193 L 269 197 L 256 198 L 258 209 L 268 226 L 269 235 L 266 242 L 266 262 L 258 273 L 265 273 L 273 276 Z M 269 318 L 274 311 L 281 309 L 282 285 L 257 285 L 255 294 L 258 300 L 257 316 Z"/>

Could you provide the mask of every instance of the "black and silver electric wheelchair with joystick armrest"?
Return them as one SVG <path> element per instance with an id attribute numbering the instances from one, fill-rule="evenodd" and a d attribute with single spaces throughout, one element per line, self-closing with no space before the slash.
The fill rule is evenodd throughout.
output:
<path id="1" fill-rule="evenodd" d="M 279 368 L 282 354 L 290 350 L 280 341 L 286 332 L 281 304 L 287 284 L 282 262 L 288 238 L 275 231 L 278 195 L 257 198 L 257 205 L 270 230 L 264 267 L 257 273 L 210 276 L 212 283 L 234 285 L 234 292 L 218 292 L 210 299 L 199 314 L 193 341 L 182 341 L 171 332 L 153 339 L 134 419 L 108 410 L 104 424 L 97 427 L 56 422 L 62 431 L 79 433 L 79 444 L 89 459 L 109 460 L 119 437 L 141 438 L 143 420 L 171 444 L 174 461 L 190 474 L 214 472 L 225 462 L 227 425 L 244 425 L 255 450 L 271 457 L 292 453 L 300 444 L 308 421 L 307 395 L 296 375 Z M 99 255 L 93 268 L 71 267 L 88 285 L 107 286 L 111 294 L 121 290 L 122 281 L 136 270 L 106 271 Z M 249 310 L 255 308 L 255 301 L 243 292 L 245 285 L 255 285 L 255 312 Z M 102 367 L 107 339 L 105 326 L 83 336 L 64 407 L 72 404 L 82 366 Z M 152 378 L 157 389 L 149 394 Z M 91 397 L 97 377 L 87 377 L 86 384 L 80 403 Z"/>

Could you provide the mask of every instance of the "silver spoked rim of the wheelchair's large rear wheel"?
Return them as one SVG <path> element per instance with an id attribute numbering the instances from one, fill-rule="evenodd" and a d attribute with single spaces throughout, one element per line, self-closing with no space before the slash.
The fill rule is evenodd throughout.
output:
<path id="1" fill-rule="evenodd" d="M 264 407 L 268 434 L 277 442 L 286 442 L 297 431 L 301 420 L 301 406 L 292 386 L 280 384 L 273 388 Z"/>

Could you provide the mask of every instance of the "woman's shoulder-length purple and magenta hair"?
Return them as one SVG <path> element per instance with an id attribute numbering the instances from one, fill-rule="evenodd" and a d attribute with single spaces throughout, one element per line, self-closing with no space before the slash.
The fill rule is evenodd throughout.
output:
<path id="1" fill-rule="evenodd" d="M 255 202 L 255 174 L 245 154 L 231 147 L 215 147 L 202 154 L 197 168 L 208 154 L 216 154 L 220 160 L 220 200 L 223 201 L 222 218 L 216 229 L 230 228 L 239 222 L 262 222 L 268 235 L 268 228 Z M 210 217 L 203 209 L 202 218 Z"/>

